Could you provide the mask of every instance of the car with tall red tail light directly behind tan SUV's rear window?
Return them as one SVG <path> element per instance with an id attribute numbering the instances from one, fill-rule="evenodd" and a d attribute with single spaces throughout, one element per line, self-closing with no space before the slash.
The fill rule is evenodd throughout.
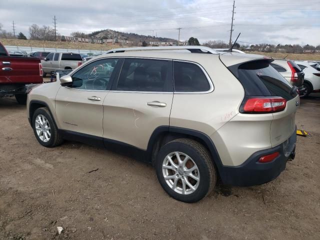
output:
<path id="1" fill-rule="evenodd" d="M 270 65 L 273 66 L 274 69 L 277 70 L 292 86 L 296 86 L 299 92 L 304 91 L 304 72 L 293 60 L 275 58 Z"/>

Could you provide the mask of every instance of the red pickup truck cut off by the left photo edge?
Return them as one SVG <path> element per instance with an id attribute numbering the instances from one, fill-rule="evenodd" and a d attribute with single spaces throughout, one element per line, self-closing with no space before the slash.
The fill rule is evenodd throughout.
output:
<path id="1" fill-rule="evenodd" d="M 14 95 L 19 104 L 25 104 L 26 85 L 42 82 L 39 58 L 10 56 L 0 42 L 0 97 Z"/>

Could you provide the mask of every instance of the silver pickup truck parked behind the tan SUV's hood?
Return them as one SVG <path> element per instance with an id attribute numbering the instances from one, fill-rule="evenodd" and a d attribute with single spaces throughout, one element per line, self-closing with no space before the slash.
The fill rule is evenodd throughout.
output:
<path id="1" fill-rule="evenodd" d="M 82 63 L 82 56 L 78 53 L 62 53 L 51 52 L 43 60 L 41 60 L 43 67 L 43 77 L 47 73 L 55 70 L 74 69 Z"/>

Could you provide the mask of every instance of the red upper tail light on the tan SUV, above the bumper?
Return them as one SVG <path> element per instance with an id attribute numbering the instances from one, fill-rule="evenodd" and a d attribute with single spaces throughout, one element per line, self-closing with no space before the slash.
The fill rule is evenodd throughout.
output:
<path id="1" fill-rule="evenodd" d="M 271 113 L 284 110 L 286 100 L 282 97 L 252 97 L 244 99 L 240 112 Z"/>

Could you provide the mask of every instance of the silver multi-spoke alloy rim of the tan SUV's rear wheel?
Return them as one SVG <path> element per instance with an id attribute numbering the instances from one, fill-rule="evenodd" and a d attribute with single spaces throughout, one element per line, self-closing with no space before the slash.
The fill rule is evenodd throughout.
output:
<path id="1" fill-rule="evenodd" d="M 168 186 L 180 194 L 190 194 L 199 186 L 199 169 L 192 158 L 183 152 L 166 155 L 162 162 L 162 174 Z"/>

